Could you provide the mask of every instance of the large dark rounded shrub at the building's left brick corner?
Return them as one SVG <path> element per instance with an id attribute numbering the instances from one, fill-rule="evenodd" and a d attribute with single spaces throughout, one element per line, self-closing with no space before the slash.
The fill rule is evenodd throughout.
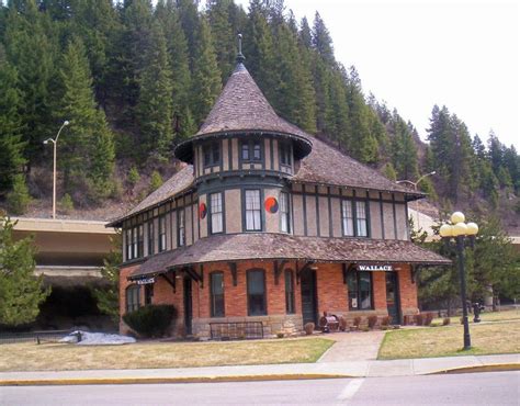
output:
<path id="1" fill-rule="evenodd" d="M 142 337 L 162 337 L 177 318 L 177 309 L 171 305 L 148 305 L 127 313 L 123 320 Z"/>

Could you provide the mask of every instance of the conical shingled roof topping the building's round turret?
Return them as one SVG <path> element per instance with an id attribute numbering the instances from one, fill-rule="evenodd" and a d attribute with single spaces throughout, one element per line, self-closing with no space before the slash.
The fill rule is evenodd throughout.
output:
<path id="1" fill-rule="evenodd" d="M 241 61 L 235 67 L 204 124 L 192 138 L 177 147 L 176 156 L 191 162 L 194 139 L 235 133 L 268 133 L 292 138 L 296 158 L 305 157 L 312 149 L 308 135 L 274 112 Z"/>

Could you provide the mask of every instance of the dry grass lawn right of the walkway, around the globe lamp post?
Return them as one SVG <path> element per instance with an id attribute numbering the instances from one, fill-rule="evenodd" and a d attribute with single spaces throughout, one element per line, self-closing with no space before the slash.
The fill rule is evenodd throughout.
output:
<path id="1" fill-rule="evenodd" d="M 388 331 L 377 359 L 476 356 L 520 352 L 520 320 L 472 324 L 472 349 L 463 351 L 463 326 Z"/>

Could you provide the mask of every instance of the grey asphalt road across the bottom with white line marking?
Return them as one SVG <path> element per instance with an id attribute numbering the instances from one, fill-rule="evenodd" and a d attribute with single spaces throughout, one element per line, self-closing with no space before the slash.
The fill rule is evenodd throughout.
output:
<path id="1" fill-rule="evenodd" d="M 0 387 L 0 405 L 520 405 L 520 372 L 316 381 Z"/>

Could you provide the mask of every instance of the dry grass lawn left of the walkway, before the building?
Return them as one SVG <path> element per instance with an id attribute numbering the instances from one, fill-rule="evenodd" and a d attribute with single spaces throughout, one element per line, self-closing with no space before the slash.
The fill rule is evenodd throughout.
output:
<path id="1" fill-rule="evenodd" d="M 0 346 L 0 371 L 316 362 L 332 343 L 332 340 L 324 338 L 233 342 L 137 342 L 125 346 L 9 343 Z"/>

